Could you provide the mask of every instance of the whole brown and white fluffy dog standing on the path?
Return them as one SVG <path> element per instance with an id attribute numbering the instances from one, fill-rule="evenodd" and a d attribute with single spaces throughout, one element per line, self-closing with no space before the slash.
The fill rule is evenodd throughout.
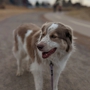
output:
<path id="1" fill-rule="evenodd" d="M 13 32 L 13 54 L 17 59 L 17 76 L 22 75 L 22 62 L 27 61 L 27 70 L 34 76 L 36 90 L 43 88 L 43 73 L 53 66 L 53 90 L 58 90 L 61 72 L 74 51 L 73 30 L 60 22 L 49 22 L 38 27 L 23 24 Z"/>

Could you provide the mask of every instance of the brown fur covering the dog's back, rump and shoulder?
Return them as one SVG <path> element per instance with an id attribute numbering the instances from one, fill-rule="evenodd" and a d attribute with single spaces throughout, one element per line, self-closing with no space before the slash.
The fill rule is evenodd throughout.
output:
<path id="1" fill-rule="evenodd" d="M 26 38 L 26 48 L 28 51 L 29 56 L 32 59 L 32 62 L 35 60 L 35 53 L 37 56 L 37 61 L 38 63 L 41 62 L 38 54 L 37 54 L 37 48 L 36 48 L 36 43 L 40 35 L 40 28 L 34 24 L 23 24 L 20 27 L 18 27 L 15 32 L 14 32 L 14 46 L 16 51 L 18 51 L 18 40 L 17 40 L 17 35 L 19 35 L 22 39 L 22 42 L 24 43 L 24 38 L 25 34 L 27 33 L 28 30 L 32 30 L 32 33 Z"/>

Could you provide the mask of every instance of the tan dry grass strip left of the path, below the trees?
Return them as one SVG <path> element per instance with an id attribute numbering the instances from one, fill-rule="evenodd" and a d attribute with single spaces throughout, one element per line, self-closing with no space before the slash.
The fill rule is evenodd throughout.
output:
<path id="1" fill-rule="evenodd" d="M 26 7 L 5 5 L 5 9 L 0 9 L 0 20 L 4 20 L 5 18 L 21 13 L 35 12 L 35 11 L 50 11 L 50 10 L 51 9 L 45 9 L 45 8 L 28 9 Z"/>

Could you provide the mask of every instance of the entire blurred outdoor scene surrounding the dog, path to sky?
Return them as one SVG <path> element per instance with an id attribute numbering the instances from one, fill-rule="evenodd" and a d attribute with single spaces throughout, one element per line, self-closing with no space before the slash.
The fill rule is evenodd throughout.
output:
<path id="1" fill-rule="evenodd" d="M 35 90 L 31 73 L 16 77 L 12 32 L 23 23 L 50 21 L 69 25 L 77 38 L 59 90 L 90 90 L 90 0 L 0 0 L 0 90 Z M 43 90 L 51 90 L 45 78 Z"/>

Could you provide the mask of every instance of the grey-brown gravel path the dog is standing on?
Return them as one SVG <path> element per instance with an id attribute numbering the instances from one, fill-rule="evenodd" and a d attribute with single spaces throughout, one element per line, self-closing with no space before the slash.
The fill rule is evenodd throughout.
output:
<path id="1" fill-rule="evenodd" d="M 35 90 L 33 76 L 24 73 L 16 77 L 16 60 L 12 55 L 12 31 L 22 23 L 36 23 L 41 26 L 44 13 L 17 15 L 0 22 L 0 90 Z M 90 50 L 76 43 L 77 51 L 72 55 L 63 71 L 59 90 L 90 89 Z M 45 80 L 44 90 L 50 90 L 50 82 Z"/>

